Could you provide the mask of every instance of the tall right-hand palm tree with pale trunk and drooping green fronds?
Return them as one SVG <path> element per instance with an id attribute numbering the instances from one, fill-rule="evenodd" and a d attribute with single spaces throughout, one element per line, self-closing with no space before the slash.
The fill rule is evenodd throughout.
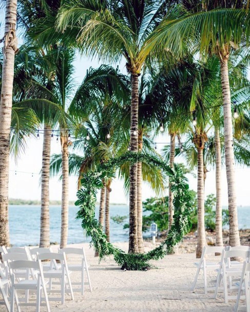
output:
<path id="1" fill-rule="evenodd" d="M 234 8 L 224 8 L 225 2 L 204 2 L 195 6 L 195 12 L 169 22 L 164 20 L 158 34 L 153 34 L 152 42 L 158 41 L 158 48 L 170 46 L 172 51 L 180 51 L 180 40 L 188 41 L 193 48 L 197 43 L 201 56 L 215 53 L 220 59 L 221 86 L 224 111 L 224 134 L 226 150 L 226 175 L 228 186 L 229 208 L 229 243 L 231 246 L 240 244 L 237 202 L 235 188 L 235 164 L 232 124 L 232 104 L 230 98 L 228 59 L 234 49 L 244 46 L 249 38 L 249 14 L 242 9 L 244 2 L 235 2 Z M 195 3 L 196 5 L 196 3 Z M 229 2 L 228 2 L 228 5 Z M 198 7 L 198 9 L 197 9 Z M 217 9 L 214 9 L 214 8 Z M 236 7 L 236 8 L 235 8 Z M 240 7 L 240 8 L 239 8 Z M 205 9 L 205 11 L 201 11 Z M 211 10 L 213 8 L 213 10 Z M 190 9 L 190 8 L 188 8 Z M 192 8 L 193 9 L 193 8 Z M 175 36 L 172 36 L 175 34 Z M 163 39 L 166 40 L 163 40 Z"/>

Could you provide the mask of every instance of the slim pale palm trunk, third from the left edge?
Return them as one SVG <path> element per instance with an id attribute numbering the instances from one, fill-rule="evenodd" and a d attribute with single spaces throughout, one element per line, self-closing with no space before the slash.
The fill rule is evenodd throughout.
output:
<path id="1" fill-rule="evenodd" d="M 61 137 L 62 141 L 62 220 L 61 220 L 61 243 L 60 248 L 65 248 L 68 241 L 69 225 L 69 153 L 67 138 Z"/>

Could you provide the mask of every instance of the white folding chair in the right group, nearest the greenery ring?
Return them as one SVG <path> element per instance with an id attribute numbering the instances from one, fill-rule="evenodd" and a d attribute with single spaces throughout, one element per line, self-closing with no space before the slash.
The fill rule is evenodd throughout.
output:
<path id="1" fill-rule="evenodd" d="M 196 276 L 195 276 L 193 286 L 191 288 L 192 290 L 195 289 L 195 286 L 196 286 L 196 283 L 198 280 L 198 276 L 199 276 L 199 273 L 201 270 L 203 271 L 205 294 L 207 294 L 208 289 L 215 289 L 215 286 L 214 287 L 208 287 L 207 286 L 207 272 L 208 271 L 215 271 L 216 269 L 218 269 L 220 267 L 220 261 L 218 261 L 218 262 L 209 261 L 208 262 L 206 259 L 206 256 L 211 255 L 211 254 L 215 255 L 216 253 L 221 254 L 223 249 L 224 249 L 224 247 L 222 247 L 222 246 L 215 246 L 215 247 L 214 246 L 213 247 L 205 246 L 203 248 L 200 261 L 195 262 L 195 265 L 197 266 L 197 271 L 196 271 Z"/>

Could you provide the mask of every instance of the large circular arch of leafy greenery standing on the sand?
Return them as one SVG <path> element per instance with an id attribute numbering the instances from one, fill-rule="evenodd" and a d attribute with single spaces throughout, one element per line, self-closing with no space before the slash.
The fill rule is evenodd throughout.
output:
<path id="1" fill-rule="evenodd" d="M 102 180 L 106 181 L 114 178 L 116 169 L 125 162 L 133 164 L 138 161 L 145 161 L 161 168 L 169 177 L 171 191 L 174 194 L 174 222 L 166 240 L 160 246 L 144 254 L 126 254 L 107 241 L 102 225 L 94 218 L 95 202 L 97 201 L 97 190 L 103 188 Z M 75 205 L 79 206 L 76 218 L 82 219 L 82 227 L 86 231 L 86 235 L 92 238 L 90 244 L 99 252 L 100 260 L 104 256 L 113 255 L 114 260 L 122 269 L 143 270 L 150 268 L 152 265 L 148 263 L 149 260 L 158 260 L 163 258 L 167 253 L 172 253 L 173 247 L 190 230 L 189 211 L 191 201 L 188 190 L 189 186 L 186 177 L 178 165 L 175 165 L 172 169 L 159 157 L 144 153 L 126 152 L 119 157 L 111 158 L 99 165 L 95 170 L 88 171 L 81 179 L 81 183 L 82 189 L 78 191 L 78 200 L 75 202 Z"/>

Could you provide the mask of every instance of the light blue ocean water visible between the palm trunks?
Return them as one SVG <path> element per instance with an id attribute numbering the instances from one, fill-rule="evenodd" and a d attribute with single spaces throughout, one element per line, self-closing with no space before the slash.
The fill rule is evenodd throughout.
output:
<path id="1" fill-rule="evenodd" d="M 89 242 L 81 220 L 76 220 L 77 207 L 69 207 L 68 243 Z M 110 216 L 128 216 L 127 205 L 111 205 Z M 96 209 L 98 218 L 98 207 Z M 239 228 L 250 228 L 250 207 L 238 207 Z M 128 223 L 128 219 L 125 220 Z M 10 242 L 13 246 L 37 245 L 40 241 L 40 206 L 10 205 L 9 207 Z M 60 243 L 61 206 L 50 206 L 50 242 Z M 128 230 L 123 230 L 123 224 L 117 224 L 110 219 L 111 242 L 128 241 Z"/>

